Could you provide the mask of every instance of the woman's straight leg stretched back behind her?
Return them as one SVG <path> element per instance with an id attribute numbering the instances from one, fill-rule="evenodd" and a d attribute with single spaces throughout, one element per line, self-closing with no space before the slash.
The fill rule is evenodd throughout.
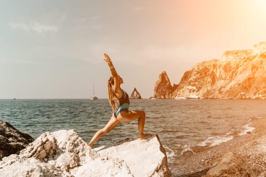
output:
<path id="1" fill-rule="evenodd" d="M 111 131 L 119 124 L 119 120 L 117 120 L 114 116 L 110 118 L 108 123 L 104 126 L 104 128 L 98 130 L 96 134 L 92 137 L 90 143 L 88 144 L 90 147 L 94 145 L 94 143 L 99 140 L 102 136 L 104 136 L 107 132 Z"/>

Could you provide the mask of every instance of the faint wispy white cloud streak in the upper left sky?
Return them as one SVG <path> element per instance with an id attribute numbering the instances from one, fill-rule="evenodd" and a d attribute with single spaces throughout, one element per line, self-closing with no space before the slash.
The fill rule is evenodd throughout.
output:
<path id="1" fill-rule="evenodd" d="M 21 29 L 27 32 L 35 32 L 37 34 L 44 34 L 47 32 L 58 32 L 57 26 L 44 25 L 40 23 L 26 24 L 26 23 L 9 23 L 9 26 L 14 29 Z"/>

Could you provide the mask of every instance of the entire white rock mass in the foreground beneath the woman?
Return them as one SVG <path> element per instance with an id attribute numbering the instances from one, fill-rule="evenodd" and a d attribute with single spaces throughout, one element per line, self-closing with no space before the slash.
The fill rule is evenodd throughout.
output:
<path id="1" fill-rule="evenodd" d="M 126 147 L 126 148 L 125 148 Z M 96 152 L 75 130 L 45 132 L 0 161 L 1 176 L 171 176 L 158 136 Z"/>

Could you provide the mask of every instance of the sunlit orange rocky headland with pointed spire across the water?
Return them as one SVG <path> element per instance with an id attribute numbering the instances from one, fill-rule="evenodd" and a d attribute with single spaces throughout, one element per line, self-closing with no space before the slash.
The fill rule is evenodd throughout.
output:
<path id="1" fill-rule="evenodd" d="M 226 51 L 220 60 L 201 62 L 174 86 L 165 72 L 160 74 L 155 98 L 191 95 L 205 99 L 266 99 L 266 42 L 252 50 Z"/>

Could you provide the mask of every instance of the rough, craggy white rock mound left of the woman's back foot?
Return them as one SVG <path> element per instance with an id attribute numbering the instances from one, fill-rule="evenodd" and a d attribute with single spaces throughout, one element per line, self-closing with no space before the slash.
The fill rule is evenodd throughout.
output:
<path id="1" fill-rule="evenodd" d="M 75 130 L 45 132 L 21 150 L 18 156 L 3 158 L 0 174 L 6 177 L 72 176 L 70 171 L 83 165 L 85 159 L 98 157 L 99 154 Z"/>

